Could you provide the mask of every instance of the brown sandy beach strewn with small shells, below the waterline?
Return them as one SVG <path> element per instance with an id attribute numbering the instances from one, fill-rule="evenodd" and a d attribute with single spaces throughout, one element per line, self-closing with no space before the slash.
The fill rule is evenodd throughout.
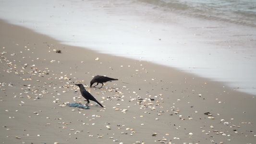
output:
<path id="1" fill-rule="evenodd" d="M 146 61 L 61 45 L 3 21 L 0 34 L 2 144 L 256 142 L 252 95 Z M 119 81 L 90 88 L 95 75 Z M 93 101 L 90 109 L 65 106 L 86 103 L 75 92 L 78 83 L 105 108 Z"/>

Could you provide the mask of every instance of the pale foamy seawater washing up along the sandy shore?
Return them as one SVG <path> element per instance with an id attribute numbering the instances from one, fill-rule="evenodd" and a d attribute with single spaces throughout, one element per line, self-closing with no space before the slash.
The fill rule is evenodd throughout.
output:
<path id="1" fill-rule="evenodd" d="M 255 0 L 0 0 L 0 19 L 256 95 Z"/>

